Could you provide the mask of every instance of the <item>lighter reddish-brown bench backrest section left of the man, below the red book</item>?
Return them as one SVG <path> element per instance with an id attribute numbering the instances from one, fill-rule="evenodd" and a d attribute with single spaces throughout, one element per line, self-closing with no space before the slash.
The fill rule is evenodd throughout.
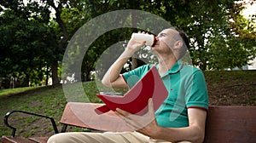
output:
<path id="1" fill-rule="evenodd" d="M 125 121 L 110 111 L 101 115 L 94 110 L 102 104 L 69 102 L 60 123 L 102 131 L 132 131 Z"/>

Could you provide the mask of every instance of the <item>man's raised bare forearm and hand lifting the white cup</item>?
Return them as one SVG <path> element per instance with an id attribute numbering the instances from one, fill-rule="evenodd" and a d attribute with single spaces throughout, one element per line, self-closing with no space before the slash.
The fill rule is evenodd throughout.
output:
<path id="1" fill-rule="evenodd" d="M 130 40 L 127 44 L 125 51 L 119 56 L 112 66 L 108 69 L 108 72 L 102 78 L 102 84 L 108 87 L 127 87 L 125 80 L 120 75 L 122 68 L 124 67 L 127 60 L 141 47 L 143 43 L 139 43 L 133 40 Z"/>

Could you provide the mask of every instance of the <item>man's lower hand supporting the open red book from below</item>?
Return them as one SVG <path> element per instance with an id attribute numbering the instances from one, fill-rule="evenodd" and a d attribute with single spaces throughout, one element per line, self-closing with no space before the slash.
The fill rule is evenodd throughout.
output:
<path id="1" fill-rule="evenodd" d="M 143 116 L 131 114 L 125 112 L 119 108 L 116 109 L 116 113 L 119 117 L 122 117 L 132 129 L 137 132 L 153 137 L 157 133 L 159 125 L 155 120 L 153 100 L 148 100 L 148 112 Z"/>

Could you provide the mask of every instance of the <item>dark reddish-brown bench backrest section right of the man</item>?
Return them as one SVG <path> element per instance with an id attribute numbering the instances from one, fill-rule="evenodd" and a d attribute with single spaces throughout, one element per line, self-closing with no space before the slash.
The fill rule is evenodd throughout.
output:
<path id="1" fill-rule="evenodd" d="M 256 142 L 256 106 L 210 106 L 205 142 Z"/>

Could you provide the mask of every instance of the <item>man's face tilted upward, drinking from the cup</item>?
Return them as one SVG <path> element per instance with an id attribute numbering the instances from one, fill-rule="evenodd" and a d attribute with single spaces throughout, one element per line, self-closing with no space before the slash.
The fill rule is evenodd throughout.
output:
<path id="1" fill-rule="evenodd" d="M 156 37 L 157 42 L 152 47 L 153 53 L 172 54 L 174 44 L 177 41 L 178 32 L 173 29 L 165 29 Z"/>

